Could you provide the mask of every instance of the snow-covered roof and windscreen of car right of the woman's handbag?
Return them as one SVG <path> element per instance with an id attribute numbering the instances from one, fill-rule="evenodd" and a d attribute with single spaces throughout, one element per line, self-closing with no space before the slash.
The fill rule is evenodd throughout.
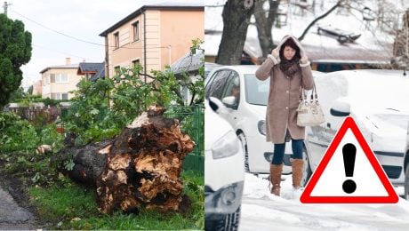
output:
<path id="1" fill-rule="evenodd" d="M 331 88 L 345 96 L 351 109 L 409 111 L 409 78 L 403 70 L 342 70 L 316 78 L 317 88 Z M 318 94 L 320 89 L 318 90 Z M 325 97 L 325 96 L 322 96 Z M 321 100 L 325 100 L 321 97 Z"/>

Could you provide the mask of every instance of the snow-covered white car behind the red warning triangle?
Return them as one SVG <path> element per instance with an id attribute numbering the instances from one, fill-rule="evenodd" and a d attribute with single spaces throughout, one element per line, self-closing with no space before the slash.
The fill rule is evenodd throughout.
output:
<path id="1" fill-rule="evenodd" d="M 396 186 L 404 184 L 409 78 L 403 73 L 343 70 L 315 78 L 325 123 L 307 128 L 307 178 L 317 168 L 345 116 L 352 116 L 390 181 Z"/>

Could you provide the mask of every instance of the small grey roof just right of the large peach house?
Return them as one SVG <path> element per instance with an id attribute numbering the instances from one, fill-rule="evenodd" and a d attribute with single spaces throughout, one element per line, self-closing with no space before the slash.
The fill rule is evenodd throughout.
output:
<path id="1" fill-rule="evenodd" d="M 175 61 L 171 70 L 175 75 L 183 72 L 193 72 L 203 67 L 205 64 L 205 54 L 201 50 L 197 50 L 195 54 L 190 53 L 184 55 L 179 60 Z"/>

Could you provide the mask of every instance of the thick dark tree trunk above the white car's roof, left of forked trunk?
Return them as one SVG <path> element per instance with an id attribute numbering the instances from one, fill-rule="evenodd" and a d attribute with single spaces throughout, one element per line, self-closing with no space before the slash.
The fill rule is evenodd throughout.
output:
<path id="1" fill-rule="evenodd" d="M 239 65 L 242 59 L 245 37 L 254 11 L 253 1 L 228 0 L 224 5 L 223 34 L 217 53 L 216 63 Z"/>

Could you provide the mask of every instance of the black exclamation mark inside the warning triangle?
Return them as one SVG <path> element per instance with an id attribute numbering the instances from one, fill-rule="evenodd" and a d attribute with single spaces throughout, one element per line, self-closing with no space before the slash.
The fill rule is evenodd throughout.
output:
<path id="1" fill-rule="evenodd" d="M 355 167 L 355 156 L 357 155 L 357 148 L 348 143 L 342 147 L 342 155 L 344 157 L 344 168 L 345 168 L 345 175 L 347 177 L 354 176 L 354 167 Z M 347 194 L 352 194 L 357 189 L 357 184 L 352 179 L 347 179 L 342 184 L 342 189 Z"/>

